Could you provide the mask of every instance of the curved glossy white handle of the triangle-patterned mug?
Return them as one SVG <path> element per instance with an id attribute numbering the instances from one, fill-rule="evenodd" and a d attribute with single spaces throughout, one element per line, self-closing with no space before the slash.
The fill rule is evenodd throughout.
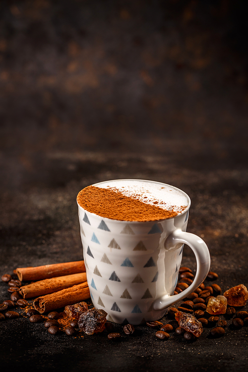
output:
<path id="1" fill-rule="evenodd" d="M 186 244 L 191 248 L 196 258 L 197 270 L 193 283 L 178 295 L 163 295 L 157 298 L 153 303 L 154 310 L 168 308 L 176 302 L 183 300 L 187 295 L 199 287 L 208 274 L 210 269 L 210 254 L 206 243 L 197 235 L 186 233 L 181 229 L 176 229 L 166 239 L 165 249 L 176 249 L 178 246 L 182 246 L 182 244 Z"/>

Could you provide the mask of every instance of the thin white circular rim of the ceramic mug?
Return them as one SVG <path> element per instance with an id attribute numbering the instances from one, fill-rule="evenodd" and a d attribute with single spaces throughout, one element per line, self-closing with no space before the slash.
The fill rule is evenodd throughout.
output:
<path id="1" fill-rule="evenodd" d="M 178 188 L 178 187 L 173 186 L 173 185 L 165 184 L 164 182 L 152 181 L 152 180 L 142 180 L 142 179 L 135 179 L 135 178 L 123 178 L 123 179 L 120 178 L 120 179 L 116 179 L 116 180 L 106 180 L 106 181 L 101 181 L 101 182 L 97 182 L 97 183 L 95 183 L 95 184 L 88 185 L 88 186 L 99 186 L 99 185 L 101 185 L 101 184 L 106 184 L 107 182 L 116 182 L 116 181 L 142 181 L 142 182 L 149 182 L 149 183 L 152 183 L 152 184 L 159 184 L 159 185 L 170 186 L 170 187 L 172 187 L 172 188 L 174 188 L 174 189 L 176 189 L 176 190 L 182 192 L 182 193 L 186 196 L 187 201 L 188 201 L 188 205 L 187 205 L 186 208 L 183 210 L 183 212 L 179 212 L 179 213 L 178 213 L 176 216 L 174 216 L 174 217 L 162 218 L 162 219 L 158 219 L 158 220 L 149 220 L 149 221 L 126 221 L 126 220 L 117 220 L 117 219 L 115 219 L 115 218 L 109 218 L 109 217 L 102 217 L 102 216 L 99 216 L 99 215 L 96 214 L 96 213 L 93 213 L 93 212 L 88 211 L 87 209 L 84 209 L 80 204 L 78 204 L 78 202 L 77 202 L 77 196 L 76 196 L 76 202 L 77 202 L 78 208 L 81 208 L 83 211 L 86 211 L 87 213 L 90 213 L 90 214 L 92 214 L 92 215 L 94 215 L 94 216 L 97 216 L 97 217 L 99 217 L 99 218 L 106 218 L 106 219 L 109 220 L 109 221 L 118 221 L 118 222 L 123 222 L 123 223 L 127 223 L 127 222 L 128 222 L 128 223 L 147 223 L 147 222 L 151 223 L 151 222 L 155 222 L 155 221 L 167 221 L 167 220 L 171 220 L 171 219 L 173 219 L 173 218 L 177 218 L 178 216 L 182 216 L 182 215 L 184 215 L 185 213 L 188 212 L 188 210 L 189 210 L 189 208 L 190 208 L 190 205 L 191 205 L 191 199 L 190 199 L 190 197 L 188 196 L 188 194 L 187 194 L 185 191 L 181 190 L 181 188 Z M 85 186 L 85 187 L 87 187 L 87 186 Z M 85 188 L 85 187 L 84 187 L 84 188 Z M 82 188 L 82 190 L 83 190 L 83 188 Z M 81 190 L 80 190 L 80 191 L 81 191 Z M 80 191 L 79 191 L 79 192 L 80 192 Z M 77 195 L 79 194 L 79 192 L 77 193 Z"/>

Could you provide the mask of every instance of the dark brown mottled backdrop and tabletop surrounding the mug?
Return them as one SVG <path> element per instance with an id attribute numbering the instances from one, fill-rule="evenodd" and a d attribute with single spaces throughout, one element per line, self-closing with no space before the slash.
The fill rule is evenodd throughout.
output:
<path id="1" fill-rule="evenodd" d="M 185 190 L 223 291 L 248 285 L 245 1 L 0 2 L 0 272 L 81 259 L 75 198 L 107 179 Z M 185 249 L 183 264 L 195 267 Z M 0 284 L 1 301 L 7 299 Z M 166 320 L 164 320 L 166 321 Z M 118 326 L 117 326 L 118 329 Z M 248 371 L 247 327 L 189 344 L 1 322 L 19 371 Z"/>

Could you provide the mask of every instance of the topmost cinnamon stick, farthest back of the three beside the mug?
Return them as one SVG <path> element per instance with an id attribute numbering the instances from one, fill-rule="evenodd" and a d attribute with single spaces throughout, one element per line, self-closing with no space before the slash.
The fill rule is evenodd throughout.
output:
<path id="1" fill-rule="evenodd" d="M 49 279 L 79 272 L 85 272 L 84 261 L 62 262 L 35 267 L 17 267 L 16 269 L 20 281 Z"/>

